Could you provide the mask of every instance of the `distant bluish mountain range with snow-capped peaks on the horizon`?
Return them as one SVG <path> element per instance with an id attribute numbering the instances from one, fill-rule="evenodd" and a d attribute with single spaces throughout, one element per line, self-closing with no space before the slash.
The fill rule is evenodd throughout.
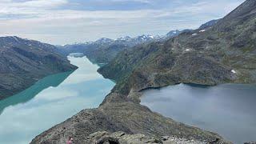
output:
<path id="1" fill-rule="evenodd" d="M 64 55 L 68 55 L 70 53 L 82 53 L 85 54 L 91 62 L 107 63 L 122 50 L 150 42 L 162 42 L 168 38 L 176 37 L 178 34 L 185 31 L 190 30 L 171 30 L 168 34 L 162 36 L 143 34 L 135 38 L 126 36 L 115 40 L 110 38 L 100 38 L 95 42 L 76 43 L 57 47 L 58 51 Z"/>

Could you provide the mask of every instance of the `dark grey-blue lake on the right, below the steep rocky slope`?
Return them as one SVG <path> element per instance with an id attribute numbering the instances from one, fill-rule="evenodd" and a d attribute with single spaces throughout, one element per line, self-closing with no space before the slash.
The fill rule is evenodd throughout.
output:
<path id="1" fill-rule="evenodd" d="M 180 84 L 144 91 L 141 104 L 166 117 L 214 131 L 234 143 L 256 141 L 256 85 Z"/>

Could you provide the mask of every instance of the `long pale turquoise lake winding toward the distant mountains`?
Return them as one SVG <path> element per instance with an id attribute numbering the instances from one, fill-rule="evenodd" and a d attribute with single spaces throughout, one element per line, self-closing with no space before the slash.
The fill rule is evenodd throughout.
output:
<path id="1" fill-rule="evenodd" d="M 43 78 L 0 101 L 0 143 L 27 144 L 36 135 L 80 110 L 98 107 L 114 82 L 97 73 L 86 57 L 69 57 L 78 70 Z"/>

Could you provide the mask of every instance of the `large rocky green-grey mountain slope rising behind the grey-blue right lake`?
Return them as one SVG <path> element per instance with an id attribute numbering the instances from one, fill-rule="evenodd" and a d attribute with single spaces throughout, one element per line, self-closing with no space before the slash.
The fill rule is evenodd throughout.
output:
<path id="1" fill-rule="evenodd" d="M 117 81 L 114 90 L 122 94 L 180 82 L 256 82 L 255 6 L 247 0 L 206 30 L 135 46 L 98 71 Z"/>

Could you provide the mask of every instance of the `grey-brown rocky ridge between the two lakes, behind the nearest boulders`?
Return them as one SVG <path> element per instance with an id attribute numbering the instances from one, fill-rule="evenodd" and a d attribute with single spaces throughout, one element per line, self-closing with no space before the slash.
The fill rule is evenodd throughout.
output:
<path id="1" fill-rule="evenodd" d="M 110 98 L 120 96 L 118 94 L 109 95 Z M 71 136 L 74 138 L 74 143 L 82 144 L 87 142 L 87 137 L 90 134 L 98 131 L 110 133 L 123 131 L 126 134 L 144 134 L 149 137 L 170 135 L 200 142 L 213 142 L 216 138 L 222 139 L 218 134 L 164 118 L 137 103 L 122 102 L 121 98 L 119 98 L 119 102 L 118 98 L 112 100 L 115 102 L 110 102 L 108 99 L 106 104 L 98 109 L 82 110 L 65 122 L 38 135 L 31 143 L 61 144 Z"/>

